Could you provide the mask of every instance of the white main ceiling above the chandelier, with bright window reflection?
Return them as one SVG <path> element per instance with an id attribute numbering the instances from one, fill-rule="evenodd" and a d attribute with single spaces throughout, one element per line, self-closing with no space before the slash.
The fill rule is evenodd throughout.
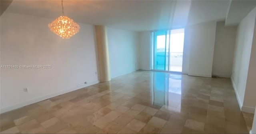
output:
<path id="1" fill-rule="evenodd" d="M 228 0 L 64 0 L 64 15 L 76 22 L 134 31 L 225 20 Z M 60 0 L 13 0 L 6 12 L 55 19 Z"/>

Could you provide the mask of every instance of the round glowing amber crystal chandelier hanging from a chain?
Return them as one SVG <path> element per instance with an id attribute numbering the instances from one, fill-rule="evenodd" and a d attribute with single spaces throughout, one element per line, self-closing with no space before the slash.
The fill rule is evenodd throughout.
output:
<path id="1" fill-rule="evenodd" d="M 79 32 L 80 26 L 72 19 L 64 16 L 63 0 L 61 0 L 62 16 L 56 18 L 48 27 L 52 32 L 62 38 L 70 38 Z"/>

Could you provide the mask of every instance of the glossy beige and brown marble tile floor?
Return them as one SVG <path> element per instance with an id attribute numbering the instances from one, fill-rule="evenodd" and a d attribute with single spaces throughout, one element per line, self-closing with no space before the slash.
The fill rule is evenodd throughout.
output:
<path id="1" fill-rule="evenodd" d="M 137 71 L 0 114 L 0 133 L 248 134 L 228 78 Z"/>

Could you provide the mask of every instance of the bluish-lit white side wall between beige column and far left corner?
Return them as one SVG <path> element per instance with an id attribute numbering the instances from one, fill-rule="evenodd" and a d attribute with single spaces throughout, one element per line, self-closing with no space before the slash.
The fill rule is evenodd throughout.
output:
<path id="1" fill-rule="evenodd" d="M 111 78 L 138 70 L 138 32 L 107 28 Z"/>

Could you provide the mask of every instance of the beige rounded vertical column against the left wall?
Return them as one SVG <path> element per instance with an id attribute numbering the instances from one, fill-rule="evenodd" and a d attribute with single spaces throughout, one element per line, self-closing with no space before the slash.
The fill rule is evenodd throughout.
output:
<path id="1" fill-rule="evenodd" d="M 106 26 L 95 26 L 100 82 L 111 80 Z"/>

